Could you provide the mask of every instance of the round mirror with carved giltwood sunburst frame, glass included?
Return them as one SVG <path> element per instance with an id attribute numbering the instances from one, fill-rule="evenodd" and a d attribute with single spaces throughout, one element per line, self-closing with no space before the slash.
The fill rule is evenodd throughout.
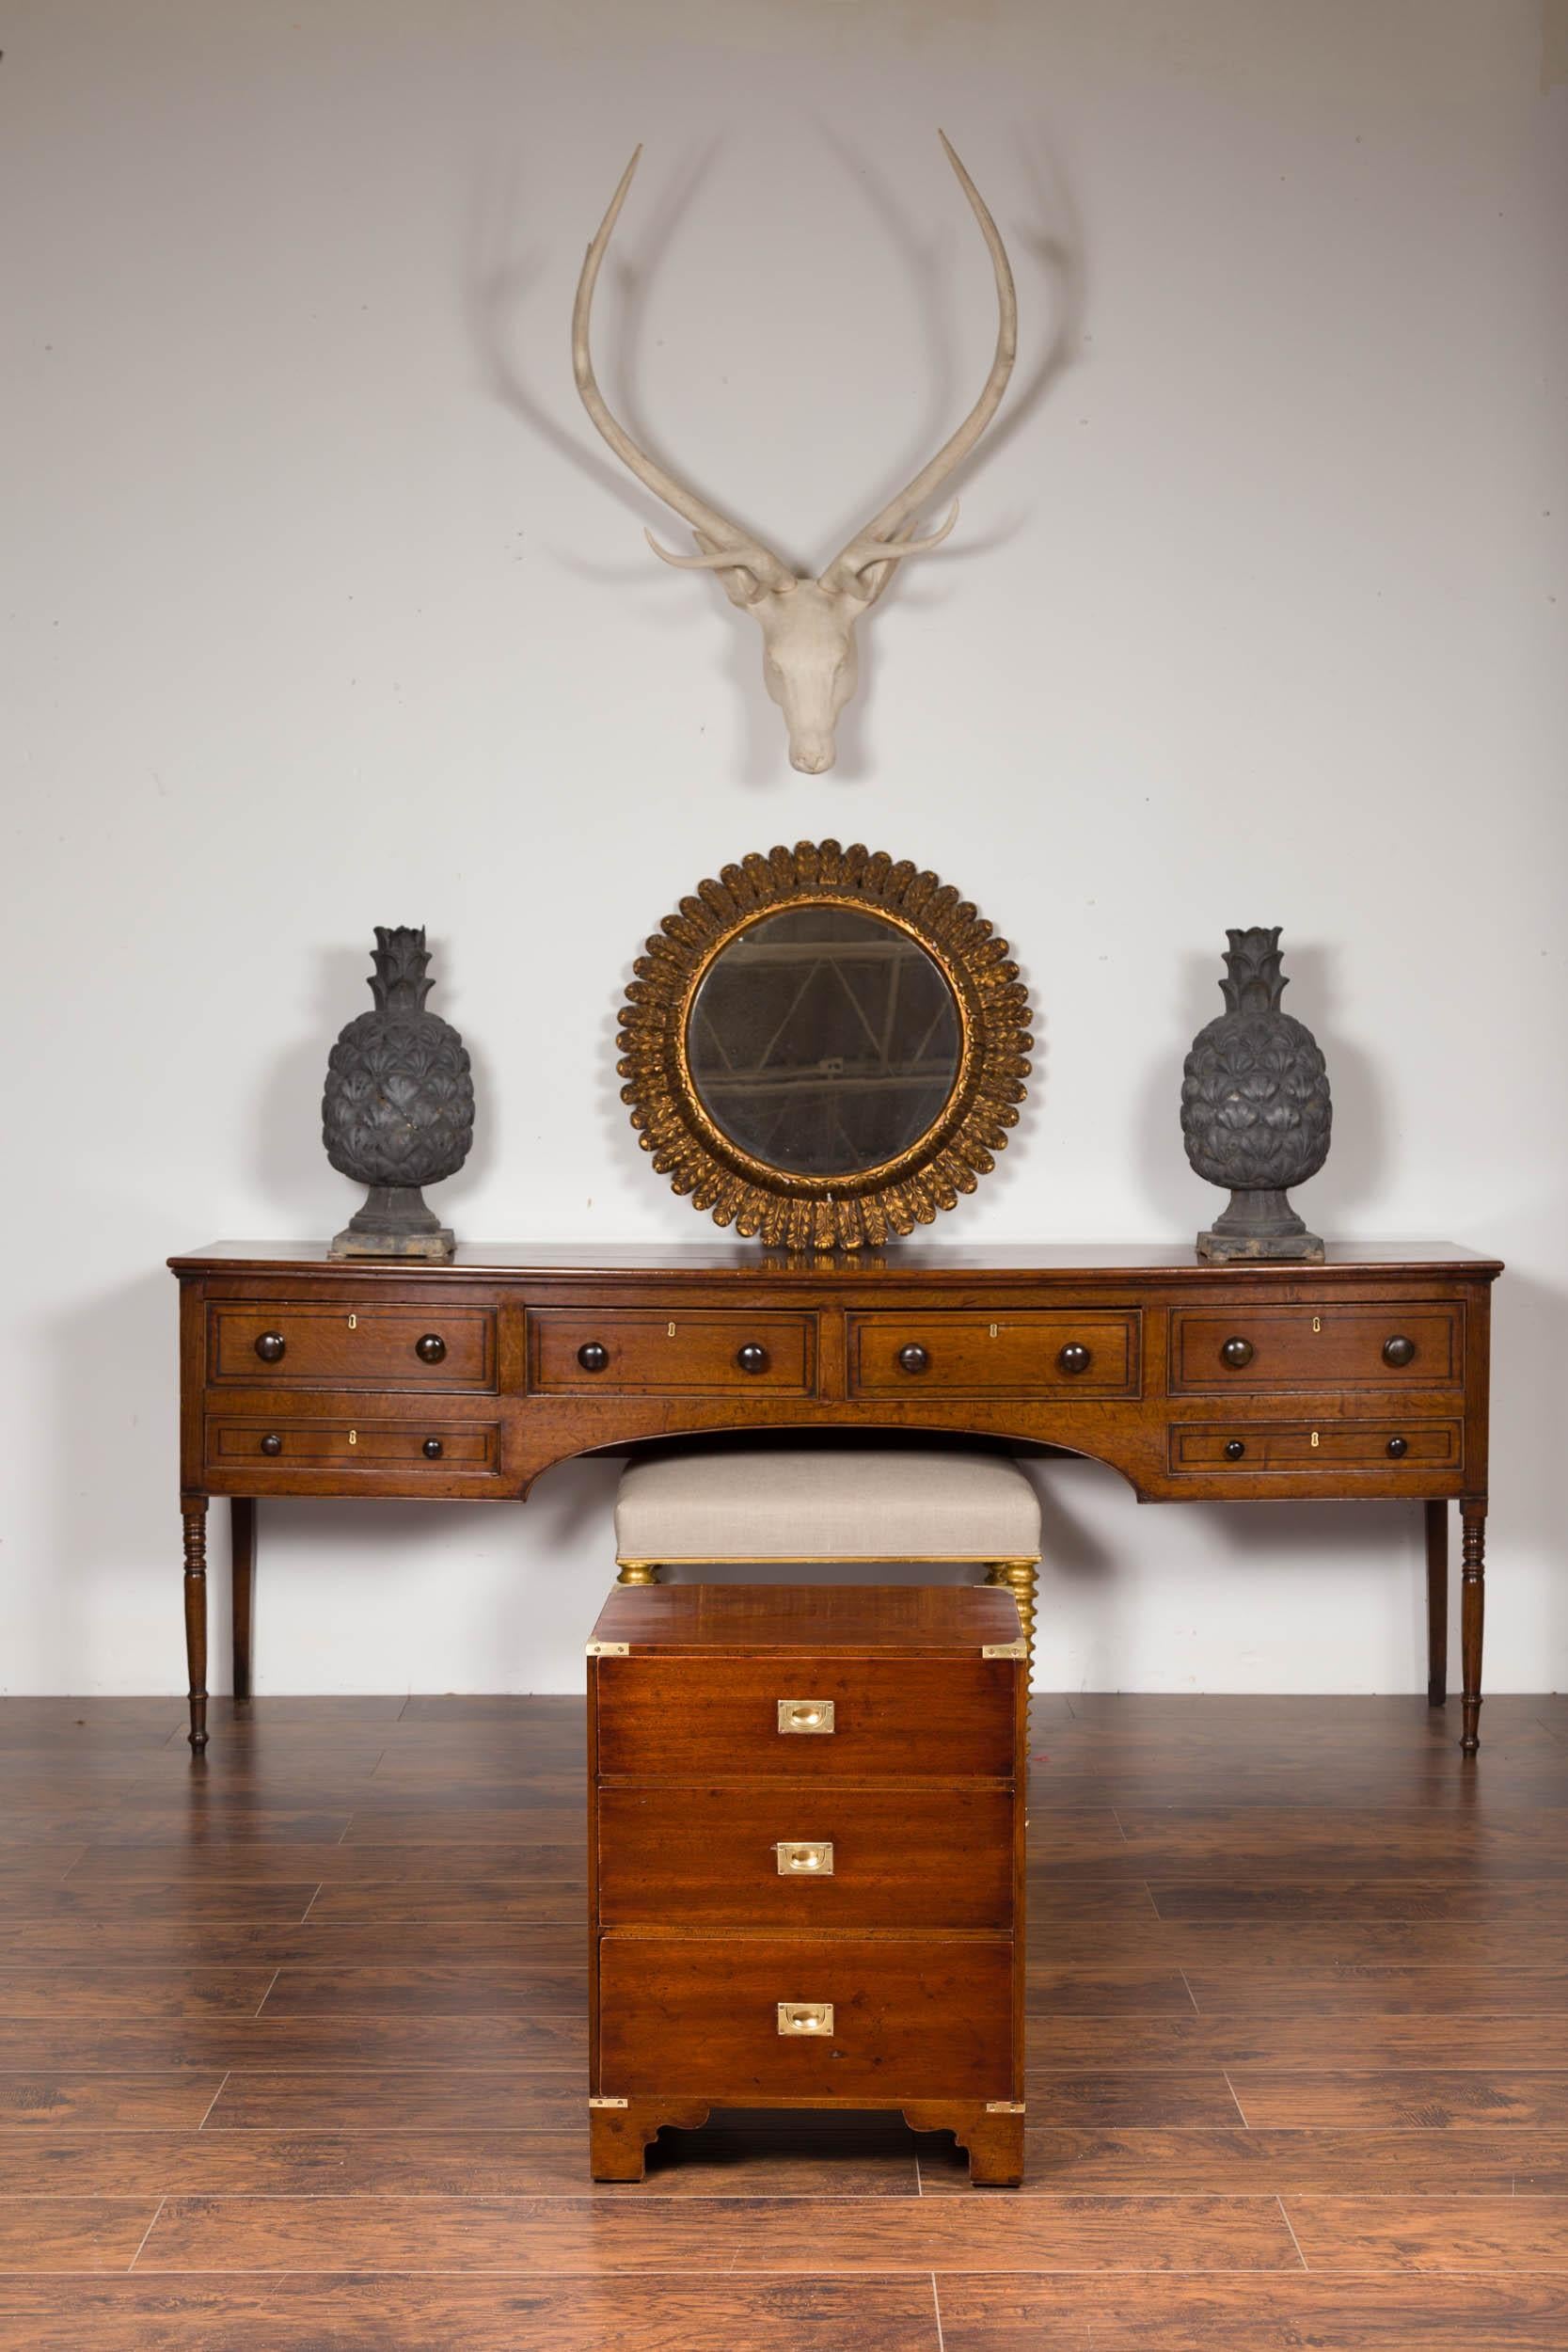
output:
<path id="1" fill-rule="evenodd" d="M 1006 938 L 950 882 L 860 842 L 724 866 L 665 915 L 621 1007 L 621 1101 L 719 1225 L 860 1249 L 997 1164 L 1030 1075 Z"/>

